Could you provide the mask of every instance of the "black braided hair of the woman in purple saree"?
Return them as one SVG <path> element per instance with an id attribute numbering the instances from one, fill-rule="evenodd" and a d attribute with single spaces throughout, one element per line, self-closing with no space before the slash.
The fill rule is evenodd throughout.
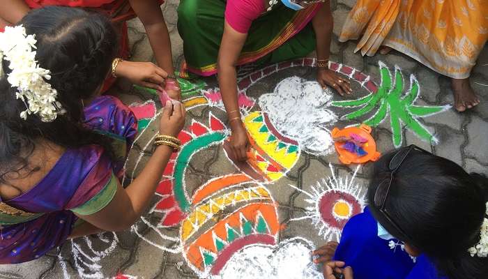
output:
<path id="1" fill-rule="evenodd" d="M 36 60 L 51 71 L 47 80 L 58 92 L 57 100 L 66 114 L 45 123 L 36 114 L 26 120 L 26 110 L 17 100 L 17 88 L 7 81 L 8 61 L 1 61 L 5 74 L 0 77 L 0 182 L 29 165 L 29 157 L 40 139 L 66 149 L 98 144 L 112 156 L 105 137 L 83 126 L 82 100 L 94 96 L 109 73 L 117 51 L 117 35 L 107 17 L 79 8 L 46 6 L 32 10 L 19 22 L 27 34 L 36 36 Z"/>

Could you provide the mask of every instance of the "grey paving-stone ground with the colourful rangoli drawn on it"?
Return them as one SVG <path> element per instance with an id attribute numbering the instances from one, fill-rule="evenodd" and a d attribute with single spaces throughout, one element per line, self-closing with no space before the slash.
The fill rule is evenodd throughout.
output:
<path id="1" fill-rule="evenodd" d="M 411 121 L 402 119 L 398 131 L 392 130 L 390 114 L 379 123 L 372 121 L 376 149 L 384 153 L 395 145 L 417 144 L 468 172 L 488 174 L 488 86 L 482 85 L 488 84 L 488 47 L 471 78 L 482 102 L 460 114 L 447 107 L 453 103 L 448 78 L 395 51 L 363 57 L 353 53 L 354 42 L 338 43 L 342 21 L 355 1 L 332 2 L 331 60 L 337 62 L 337 71 L 353 77 L 353 96 L 347 100 L 380 86 L 383 61 L 391 73 L 395 65 L 401 68 L 404 94 L 409 92 L 409 76 L 417 77 L 420 94 L 411 105 L 420 107 L 419 112 L 433 112 L 406 113 Z M 178 0 L 169 0 L 162 9 L 179 64 L 183 47 L 176 29 L 177 6 Z M 132 60 L 153 60 L 138 20 L 130 22 L 130 38 Z M 360 107 L 344 107 L 335 103 L 344 100 L 337 93 L 317 89 L 312 65 L 312 60 L 300 59 L 264 72 L 252 66 L 241 69 L 240 105 L 257 150 L 254 168 L 236 165 L 224 150 L 229 130 L 215 78 L 187 82 L 183 99 L 188 133 L 181 137 L 185 152 L 165 171 L 148 213 L 128 232 L 68 241 L 36 261 L 1 266 L 0 278 L 320 278 L 308 264 L 307 252 L 340 237 L 347 218 L 365 205 L 371 167 L 340 163 L 328 133 L 371 119 L 378 107 L 344 118 Z M 120 83 L 112 93 L 128 105 L 141 107 L 153 100 L 160 109 L 156 96 L 127 84 Z M 282 104 L 282 110 L 273 110 L 273 104 Z M 406 107 L 398 109 L 406 112 Z M 158 122 L 151 116 L 146 116 L 148 126 L 128 158 L 125 185 L 151 155 Z"/>

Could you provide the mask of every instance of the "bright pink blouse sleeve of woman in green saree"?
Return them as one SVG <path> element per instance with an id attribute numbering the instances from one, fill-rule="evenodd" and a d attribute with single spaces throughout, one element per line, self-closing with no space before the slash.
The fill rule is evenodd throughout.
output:
<path id="1" fill-rule="evenodd" d="M 263 0 L 227 0 L 225 20 L 239 33 L 247 33 L 252 21 L 263 12 Z"/>

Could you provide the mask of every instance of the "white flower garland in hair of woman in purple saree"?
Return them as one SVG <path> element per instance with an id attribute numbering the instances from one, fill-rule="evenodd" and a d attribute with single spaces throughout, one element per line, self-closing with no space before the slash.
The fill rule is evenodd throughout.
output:
<path id="1" fill-rule="evenodd" d="M 28 114 L 37 114 L 41 121 L 52 122 L 66 111 L 56 100 L 56 89 L 46 82 L 51 79 L 51 72 L 37 64 L 36 42 L 35 35 L 27 35 L 22 25 L 6 27 L 0 33 L 0 76 L 4 74 L 1 61 L 10 61 L 8 83 L 17 87 L 15 96 L 26 105 L 20 117 L 27 119 Z"/>

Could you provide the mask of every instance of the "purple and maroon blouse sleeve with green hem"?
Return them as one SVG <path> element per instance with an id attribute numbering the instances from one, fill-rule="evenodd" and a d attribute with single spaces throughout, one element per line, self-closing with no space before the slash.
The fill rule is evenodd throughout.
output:
<path id="1" fill-rule="evenodd" d="M 107 206 L 114 198 L 119 183 L 112 172 L 110 159 L 101 150 L 97 156 L 86 159 L 93 160 L 91 170 L 66 205 L 66 209 L 80 215 L 91 215 Z"/>

